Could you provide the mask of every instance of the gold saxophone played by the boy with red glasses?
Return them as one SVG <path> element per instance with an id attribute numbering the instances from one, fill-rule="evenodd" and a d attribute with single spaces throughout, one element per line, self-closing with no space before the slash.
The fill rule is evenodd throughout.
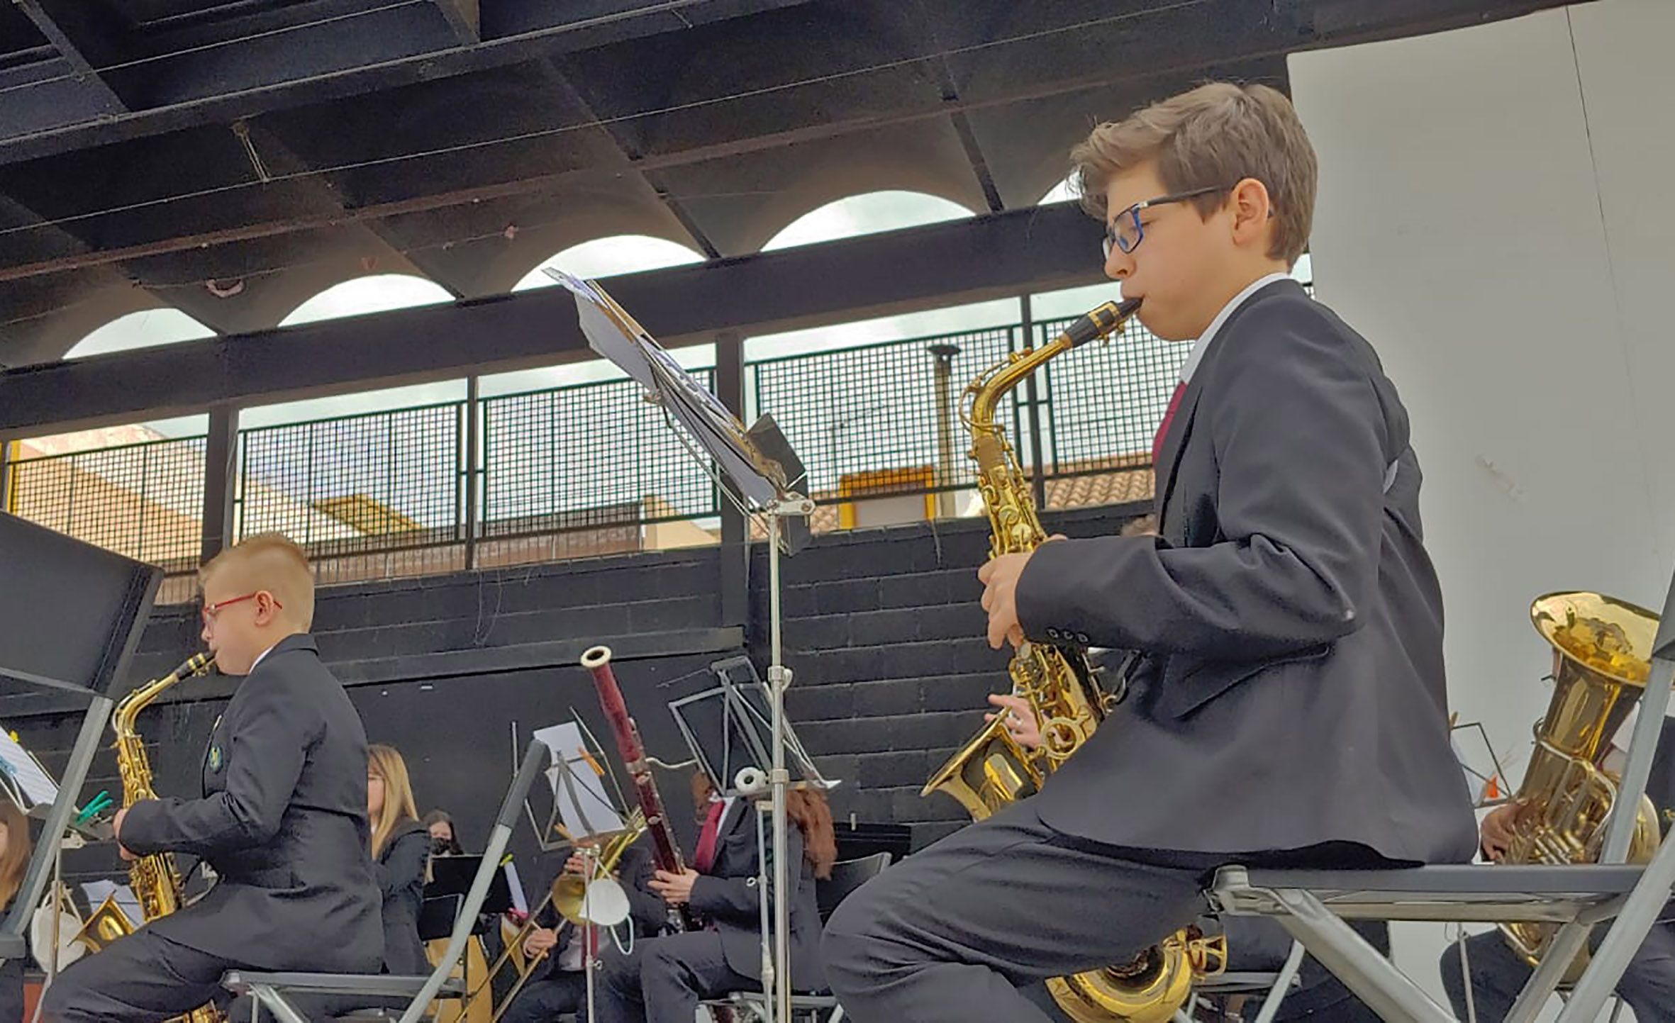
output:
<path id="1" fill-rule="evenodd" d="M 122 774 L 124 809 L 144 799 L 157 799 L 157 794 L 151 787 L 151 758 L 146 755 L 146 745 L 134 728 L 139 712 L 149 707 L 169 686 L 186 678 L 206 675 L 213 666 L 213 655 L 193 655 L 174 671 L 147 681 L 127 697 L 122 697 L 122 702 L 116 705 L 116 712 L 111 715 L 111 730 L 116 732 L 116 763 Z M 127 882 L 139 899 L 139 909 L 144 916 L 141 923 L 168 916 L 179 909 L 184 901 L 186 886 L 181 881 L 179 869 L 174 866 L 174 856 L 169 852 L 154 852 L 136 859 L 129 864 Z M 85 944 L 89 951 L 97 953 L 117 938 L 132 934 L 136 928 L 137 924 L 127 919 L 127 914 L 116 904 L 116 896 L 112 894 L 87 918 L 75 939 Z M 188 1023 L 226 1023 L 226 1015 L 214 1005 L 204 1005 L 176 1018 Z"/>

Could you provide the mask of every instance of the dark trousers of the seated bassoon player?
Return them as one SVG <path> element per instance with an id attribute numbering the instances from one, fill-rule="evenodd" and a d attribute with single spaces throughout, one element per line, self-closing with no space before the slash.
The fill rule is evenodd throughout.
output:
<path id="1" fill-rule="evenodd" d="M 595 983 L 598 1023 L 692 1023 L 705 998 L 760 986 L 727 964 L 715 931 L 640 941 Z"/>

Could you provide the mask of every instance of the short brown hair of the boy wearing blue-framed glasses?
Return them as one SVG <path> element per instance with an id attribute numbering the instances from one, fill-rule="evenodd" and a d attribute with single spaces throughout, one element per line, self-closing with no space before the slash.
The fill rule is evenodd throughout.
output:
<path id="1" fill-rule="evenodd" d="M 1296 263 L 1308 248 L 1315 221 L 1318 166 L 1291 100 L 1268 85 L 1211 82 L 1171 95 L 1119 124 L 1100 124 L 1070 151 L 1070 181 L 1082 208 L 1106 219 L 1106 186 L 1144 162 L 1172 193 L 1233 188 L 1255 177 L 1273 203 L 1273 244 L 1268 256 Z M 1224 193 L 1193 199 L 1199 216 L 1226 201 Z"/>

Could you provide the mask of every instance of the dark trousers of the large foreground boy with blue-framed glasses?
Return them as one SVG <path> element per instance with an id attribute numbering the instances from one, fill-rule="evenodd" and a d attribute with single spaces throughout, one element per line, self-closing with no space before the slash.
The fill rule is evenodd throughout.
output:
<path id="1" fill-rule="evenodd" d="M 856 1023 L 1047 1023 L 1018 986 L 1132 959 L 1204 912 L 1203 879 L 1060 835 L 1023 800 L 844 899 L 826 979 Z"/>

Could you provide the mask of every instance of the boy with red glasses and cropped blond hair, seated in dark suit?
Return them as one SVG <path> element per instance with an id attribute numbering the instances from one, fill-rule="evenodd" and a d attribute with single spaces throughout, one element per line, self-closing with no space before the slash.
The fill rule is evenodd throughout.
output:
<path id="1" fill-rule="evenodd" d="M 201 799 L 116 815 L 124 859 L 203 857 L 198 902 L 85 956 L 45 993 L 50 1023 L 151 1023 L 224 1001 L 228 969 L 377 973 L 384 959 L 367 829 L 367 733 L 308 626 L 308 559 L 253 536 L 199 571 L 203 638 L 243 676 L 214 727 Z"/>

